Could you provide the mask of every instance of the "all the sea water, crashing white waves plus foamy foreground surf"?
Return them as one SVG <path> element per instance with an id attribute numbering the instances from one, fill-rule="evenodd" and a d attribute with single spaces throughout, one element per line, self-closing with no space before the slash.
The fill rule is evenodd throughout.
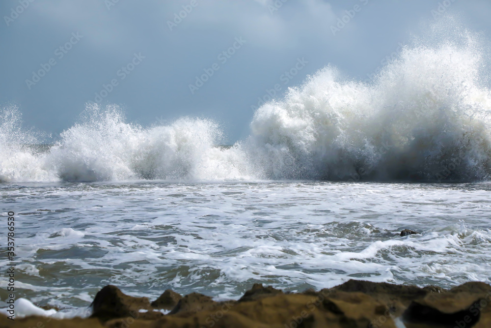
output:
<path id="1" fill-rule="evenodd" d="M 115 104 L 87 104 L 46 142 L 3 106 L 0 210 L 16 213 L 19 296 L 63 317 L 107 284 L 226 299 L 255 282 L 490 283 L 489 48 L 432 29 L 370 81 L 333 65 L 307 77 L 234 145 L 212 119 L 141 126 Z"/>

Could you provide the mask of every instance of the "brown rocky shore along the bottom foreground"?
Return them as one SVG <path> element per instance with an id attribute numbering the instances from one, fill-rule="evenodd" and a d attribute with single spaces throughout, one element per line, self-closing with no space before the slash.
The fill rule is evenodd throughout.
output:
<path id="1" fill-rule="evenodd" d="M 450 290 L 350 280 L 321 291 L 284 293 L 254 285 L 239 300 L 214 301 L 166 290 L 136 298 L 115 286 L 100 290 L 87 319 L 27 317 L 0 327 L 19 328 L 490 328 L 491 286 L 469 282 Z M 165 314 L 164 314 L 165 313 Z"/>

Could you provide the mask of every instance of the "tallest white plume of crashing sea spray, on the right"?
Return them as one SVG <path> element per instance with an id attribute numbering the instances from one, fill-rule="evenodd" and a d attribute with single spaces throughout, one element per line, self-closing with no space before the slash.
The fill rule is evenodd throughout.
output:
<path id="1" fill-rule="evenodd" d="M 320 70 L 255 113 L 251 158 L 270 179 L 489 179 L 483 52 L 457 33 L 403 47 L 370 83 Z"/>

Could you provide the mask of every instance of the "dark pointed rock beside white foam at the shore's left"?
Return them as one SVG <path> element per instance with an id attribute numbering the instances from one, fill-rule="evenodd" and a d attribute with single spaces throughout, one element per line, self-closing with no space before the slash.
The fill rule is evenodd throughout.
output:
<path id="1" fill-rule="evenodd" d="M 125 317 L 156 319 L 164 315 L 162 312 L 153 312 L 148 298 L 125 295 L 112 285 L 101 289 L 90 305 L 93 308 L 91 318 L 99 318 L 103 322 Z M 147 310 L 147 312 L 139 312 L 139 310 Z"/>

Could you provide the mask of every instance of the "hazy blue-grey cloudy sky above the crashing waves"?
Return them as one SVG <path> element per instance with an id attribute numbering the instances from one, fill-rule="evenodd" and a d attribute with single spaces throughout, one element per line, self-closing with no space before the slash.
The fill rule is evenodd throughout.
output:
<path id="1" fill-rule="evenodd" d="M 0 106 L 54 138 L 88 103 L 128 121 L 216 120 L 232 143 L 255 108 L 327 65 L 365 81 L 422 26 L 491 35 L 489 0 L 2 0 Z"/>

